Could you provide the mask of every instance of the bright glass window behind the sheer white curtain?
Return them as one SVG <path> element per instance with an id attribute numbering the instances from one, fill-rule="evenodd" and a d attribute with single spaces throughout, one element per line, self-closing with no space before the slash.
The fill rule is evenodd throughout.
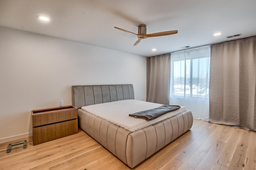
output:
<path id="1" fill-rule="evenodd" d="M 173 95 L 209 97 L 210 56 L 174 60 Z"/>

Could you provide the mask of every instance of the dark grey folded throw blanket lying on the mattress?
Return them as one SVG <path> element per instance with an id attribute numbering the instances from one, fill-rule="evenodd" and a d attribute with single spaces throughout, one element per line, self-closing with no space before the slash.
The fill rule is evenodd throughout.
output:
<path id="1" fill-rule="evenodd" d="M 137 113 L 129 114 L 129 116 L 150 121 L 170 111 L 175 111 L 178 109 L 180 109 L 180 106 L 162 105 L 154 109 L 149 109 L 149 110 L 144 110 Z"/>

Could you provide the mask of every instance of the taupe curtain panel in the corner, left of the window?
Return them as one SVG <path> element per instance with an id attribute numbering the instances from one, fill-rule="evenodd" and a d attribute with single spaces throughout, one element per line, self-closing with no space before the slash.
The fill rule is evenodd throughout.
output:
<path id="1" fill-rule="evenodd" d="M 147 58 L 147 101 L 169 104 L 171 54 Z"/>

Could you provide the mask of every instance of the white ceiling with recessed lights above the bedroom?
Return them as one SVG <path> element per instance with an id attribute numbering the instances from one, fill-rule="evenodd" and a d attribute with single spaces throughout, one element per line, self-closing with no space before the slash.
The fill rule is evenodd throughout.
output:
<path id="1" fill-rule="evenodd" d="M 39 15 L 50 21 L 38 20 Z M 147 25 L 147 33 L 178 33 L 133 46 L 136 35 L 114 29 L 138 33 L 140 24 Z M 0 0 L 0 26 L 155 56 L 256 35 L 256 0 Z"/>

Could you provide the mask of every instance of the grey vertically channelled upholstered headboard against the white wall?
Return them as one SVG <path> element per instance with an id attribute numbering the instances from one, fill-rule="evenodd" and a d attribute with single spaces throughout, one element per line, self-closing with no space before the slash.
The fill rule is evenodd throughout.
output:
<path id="1" fill-rule="evenodd" d="M 72 105 L 82 106 L 134 99 L 132 84 L 72 86 Z"/>

